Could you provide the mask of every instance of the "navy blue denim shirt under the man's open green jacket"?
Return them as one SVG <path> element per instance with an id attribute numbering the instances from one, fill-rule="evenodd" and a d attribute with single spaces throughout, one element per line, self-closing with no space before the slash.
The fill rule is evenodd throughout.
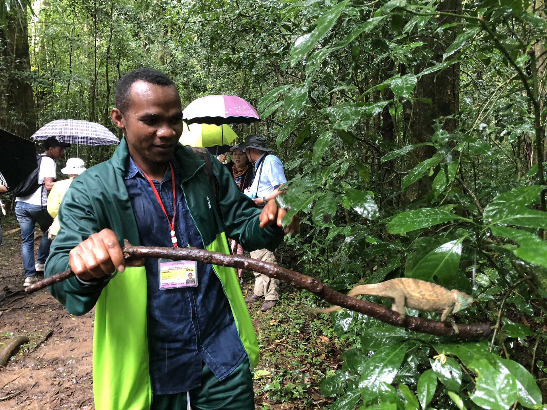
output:
<path id="1" fill-rule="evenodd" d="M 173 161 L 176 182 L 174 231 L 179 247 L 205 249 L 181 189 L 179 165 Z M 143 246 L 172 247 L 170 228 L 158 200 L 130 158 L 125 186 L 133 206 Z M 164 179 L 153 181 L 169 220 L 173 218 L 173 186 L 167 167 Z M 154 394 L 183 393 L 201 385 L 202 362 L 223 380 L 246 358 L 228 297 L 211 265 L 197 262 L 197 286 L 160 290 L 158 259 L 144 265 L 148 288 L 148 350 Z"/>

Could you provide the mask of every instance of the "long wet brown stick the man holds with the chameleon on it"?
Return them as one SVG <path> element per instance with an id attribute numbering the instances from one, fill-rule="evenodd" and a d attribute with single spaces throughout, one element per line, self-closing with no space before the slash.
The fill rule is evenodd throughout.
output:
<path id="1" fill-rule="evenodd" d="M 393 326 L 406 327 L 406 329 L 428 333 L 429 335 L 477 339 L 487 337 L 492 332 L 490 323 L 457 323 L 456 325 L 459 332 L 456 333 L 451 326 L 447 326 L 438 321 L 410 317 L 409 315 L 406 315 L 405 318 L 401 318 L 399 313 L 394 312 L 391 309 L 366 300 L 344 295 L 329 288 L 329 286 L 323 284 L 316 278 L 291 271 L 287 268 L 275 265 L 274 263 L 263 262 L 249 257 L 226 255 L 197 248 L 133 246 L 127 240 L 124 244 L 123 253 L 127 261 L 142 259 L 144 257 L 161 257 L 174 261 L 190 260 L 210 263 L 211 265 L 248 269 L 263 273 L 275 279 L 283 280 L 284 282 L 296 286 L 296 288 L 306 289 L 323 300 L 337 306 L 363 313 Z M 40 280 L 38 283 L 27 286 L 25 291 L 27 293 L 32 293 L 39 289 L 46 288 L 47 286 L 62 282 L 72 276 L 74 276 L 74 273 L 72 270 L 68 269 L 65 272 L 55 274 L 44 280 Z"/>

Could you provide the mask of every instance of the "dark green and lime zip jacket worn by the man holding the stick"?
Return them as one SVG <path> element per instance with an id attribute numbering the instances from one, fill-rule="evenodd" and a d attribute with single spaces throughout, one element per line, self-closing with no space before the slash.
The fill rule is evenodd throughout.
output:
<path id="1" fill-rule="evenodd" d="M 174 157 L 181 165 L 184 200 L 207 250 L 229 253 L 226 235 L 247 250 L 274 250 L 283 232 L 277 226 L 260 229 L 260 209 L 237 188 L 226 167 L 212 158 L 218 181 L 218 211 L 211 184 L 200 169 L 205 161 L 180 145 Z M 45 276 L 68 268 L 69 251 L 92 233 L 109 228 L 120 243 L 139 245 L 131 201 L 124 184 L 129 150 L 125 138 L 112 159 L 74 178 L 59 209 L 61 229 L 51 245 Z M 212 204 L 212 206 L 211 206 Z M 219 216 L 219 213 L 222 215 Z M 143 215 L 150 217 L 150 215 Z M 259 352 L 254 327 L 232 268 L 213 266 L 228 298 L 237 331 L 251 366 Z M 82 285 L 76 278 L 50 287 L 69 313 L 95 308 L 93 388 L 97 410 L 144 410 L 152 402 L 148 370 L 147 285 L 144 266 L 127 267 L 109 282 Z"/>

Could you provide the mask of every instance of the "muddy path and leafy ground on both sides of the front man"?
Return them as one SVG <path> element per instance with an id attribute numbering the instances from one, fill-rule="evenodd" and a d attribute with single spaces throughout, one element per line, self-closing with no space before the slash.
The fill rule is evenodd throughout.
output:
<path id="1" fill-rule="evenodd" d="M 18 227 L 2 220 L 4 234 Z M 35 240 L 38 249 L 39 239 Z M 252 272 L 243 272 L 242 289 L 252 292 Z M 4 235 L 0 246 L 0 349 L 10 337 L 26 335 L 8 365 L 0 368 L 0 410 L 92 410 L 92 345 L 94 311 L 68 314 L 47 291 L 26 295 L 19 232 Z M 340 343 L 330 320 L 303 314 L 307 296 L 281 286 L 283 296 L 271 311 L 249 306 L 260 345 L 255 368 L 257 409 L 323 409 L 331 399 L 319 393 L 325 374 L 339 365 Z"/>

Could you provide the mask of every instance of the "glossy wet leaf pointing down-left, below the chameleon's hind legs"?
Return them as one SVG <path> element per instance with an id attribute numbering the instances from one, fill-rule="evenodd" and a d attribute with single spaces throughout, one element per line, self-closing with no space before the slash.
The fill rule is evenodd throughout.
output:
<path id="1" fill-rule="evenodd" d="M 363 395 L 377 392 L 381 382 L 392 383 L 406 354 L 406 343 L 395 343 L 377 350 L 366 362 L 366 370 L 359 379 Z"/>

